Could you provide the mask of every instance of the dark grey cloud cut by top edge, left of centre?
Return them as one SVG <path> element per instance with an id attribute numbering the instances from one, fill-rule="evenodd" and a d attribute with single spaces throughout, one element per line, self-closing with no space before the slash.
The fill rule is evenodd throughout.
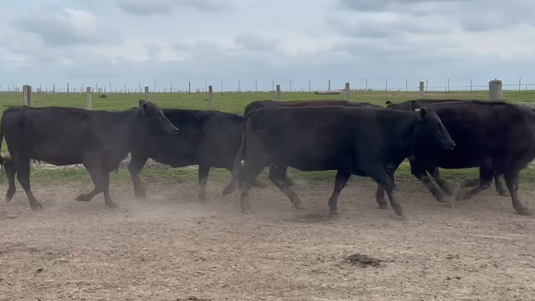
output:
<path id="1" fill-rule="evenodd" d="M 224 12 L 233 8 L 220 0 L 116 0 L 119 9 L 136 16 L 171 14 L 177 7 L 189 7 L 201 12 Z"/>

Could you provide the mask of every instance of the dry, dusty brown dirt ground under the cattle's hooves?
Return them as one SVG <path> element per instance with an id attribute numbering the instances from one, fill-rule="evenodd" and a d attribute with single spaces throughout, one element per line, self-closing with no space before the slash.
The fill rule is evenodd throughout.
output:
<path id="1" fill-rule="evenodd" d="M 0 299 L 535 300 L 535 219 L 494 189 L 450 208 L 399 184 L 398 219 L 373 184 L 350 182 L 332 216 L 332 184 L 297 183 L 306 208 L 269 185 L 252 215 L 211 182 L 205 204 L 196 183 L 147 185 L 146 201 L 113 186 L 118 210 L 74 201 L 88 185 L 36 185 L 32 210 L 19 185 L 0 204 Z M 535 209 L 535 190 L 520 193 Z"/>

